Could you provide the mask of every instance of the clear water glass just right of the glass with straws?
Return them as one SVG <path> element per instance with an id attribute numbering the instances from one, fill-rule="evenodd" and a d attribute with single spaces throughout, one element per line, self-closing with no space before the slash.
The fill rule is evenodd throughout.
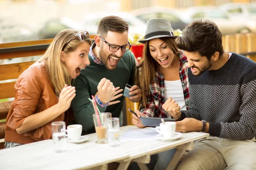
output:
<path id="1" fill-rule="evenodd" d="M 120 145 L 120 125 L 119 125 L 119 118 L 108 118 L 107 119 L 108 125 L 108 143 L 111 146 L 119 146 Z"/>

